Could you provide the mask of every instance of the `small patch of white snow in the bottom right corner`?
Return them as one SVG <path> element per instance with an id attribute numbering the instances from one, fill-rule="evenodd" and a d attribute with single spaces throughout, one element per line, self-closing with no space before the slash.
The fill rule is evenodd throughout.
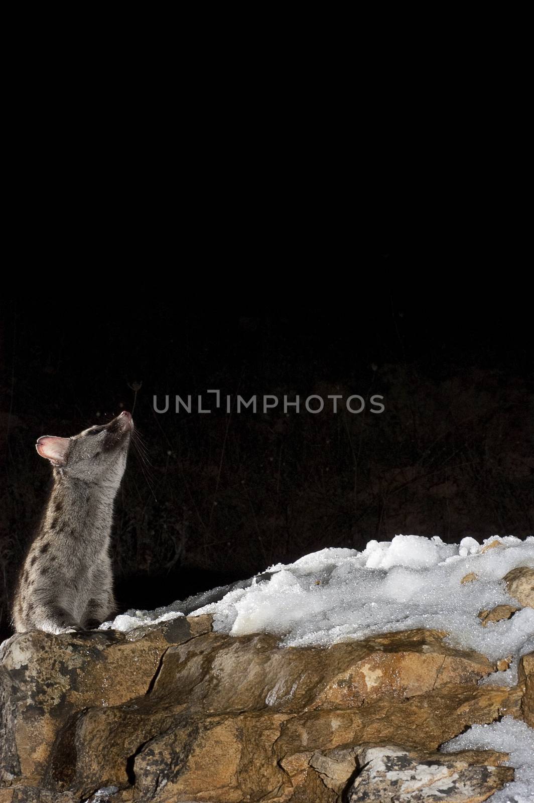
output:
<path id="1" fill-rule="evenodd" d="M 534 801 L 534 730 L 512 716 L 491 725 L 472 725 L 465 733 L 442 744 L 442 752 L 499 750 L 510 753 L 504 766 L 515 767 L 514 780 L 488 798 L 491 803 Z"/>

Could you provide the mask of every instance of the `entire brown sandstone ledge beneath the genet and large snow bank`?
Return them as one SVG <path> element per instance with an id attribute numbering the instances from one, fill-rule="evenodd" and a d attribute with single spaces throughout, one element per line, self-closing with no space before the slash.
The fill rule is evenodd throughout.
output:
<path id="1" fill-rule="evenodd" d="M 497 667 L 444 635 L 279 647 L 210 616 L 15 635 L 0 803 L 484 801 L 513 778 L 507 754 L 435 751 L 503 715 L 534 727 L 534 655 L 515 687 L 478 685 Z"/>

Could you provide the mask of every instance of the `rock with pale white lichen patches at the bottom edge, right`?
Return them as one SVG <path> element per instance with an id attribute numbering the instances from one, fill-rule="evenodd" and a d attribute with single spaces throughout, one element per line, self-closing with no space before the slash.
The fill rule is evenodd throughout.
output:
<path id="1" fill-rule="evenodd" d="M 426 753 L 396 746 L 365 748 L 347 803 L 480 803 L 513 781 L 506 753 Z"/>

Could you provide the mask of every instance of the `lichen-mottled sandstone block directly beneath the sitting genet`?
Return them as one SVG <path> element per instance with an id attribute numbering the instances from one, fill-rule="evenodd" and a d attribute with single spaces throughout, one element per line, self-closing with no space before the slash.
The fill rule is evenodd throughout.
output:
<path id="1" fill-rule="evenodd" d="M 55 737 L 76 711 L 144 695 L 161 655 L 187 638 L 191 626 L 180 617 L 137 641 L 100 630 L 59 636 L 35 630 L 8 639 L 0 654 L 0 783 L 11 775 L 43 777 Z"/>

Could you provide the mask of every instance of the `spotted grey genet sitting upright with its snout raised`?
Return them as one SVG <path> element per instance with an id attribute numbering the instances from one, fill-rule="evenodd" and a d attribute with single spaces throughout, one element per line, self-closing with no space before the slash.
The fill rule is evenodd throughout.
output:
<path id="1" fill-rule="evenodd" d="M 39 438 L 54 484 L 18 577 L 17 633 L 85 630 L 116 612 L 109 543 L 132 429 L 131 415 L 121 413 L 72 438 Z"/>

